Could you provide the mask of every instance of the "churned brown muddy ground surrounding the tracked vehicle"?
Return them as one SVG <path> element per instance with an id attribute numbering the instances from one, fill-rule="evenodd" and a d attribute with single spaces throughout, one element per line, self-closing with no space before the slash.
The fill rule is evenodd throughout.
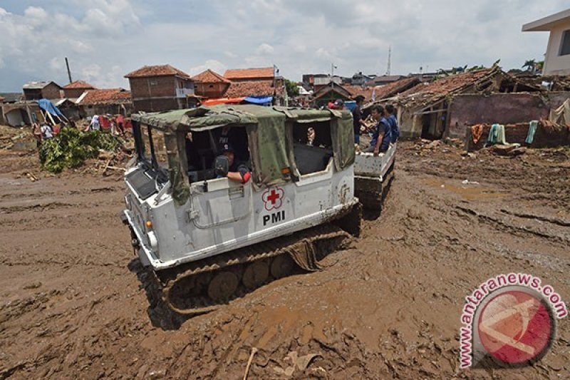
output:
<path id="1" fill-rule="evenodd" d="M 497 274 L 570 303 L 570 151 L 460 153 L 400 143 L 380 219 L 325 270 L 177 323 L 141 285 L 120 173 L 51 176 L 1 150 L 0 378 L 241 379 L 255 347 L 250 379 L 567 379 L 567 319 L 524 369 L 461 370 L 458 332 L 464 297 Z"/>

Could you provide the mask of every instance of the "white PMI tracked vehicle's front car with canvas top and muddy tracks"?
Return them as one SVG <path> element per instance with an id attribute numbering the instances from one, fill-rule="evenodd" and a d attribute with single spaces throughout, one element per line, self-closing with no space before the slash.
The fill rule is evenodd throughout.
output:
<path id="1" fill-rule="evenodd" d="M 176 312 L 318 269 L 347 232 L 358 235 L 348 111 L 201 107 L 133 115 L 133 135 L 122 219 Z M 228 142 L 251 170 L 246 183 L 212 169 Z"/>

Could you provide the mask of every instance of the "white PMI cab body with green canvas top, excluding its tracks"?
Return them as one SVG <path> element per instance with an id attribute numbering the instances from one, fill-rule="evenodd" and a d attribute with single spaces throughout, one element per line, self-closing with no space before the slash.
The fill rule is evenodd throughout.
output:
<path id="1" fill-rule="evenodd" d="M 348 111 L 216 106 L 132 118 L 123 220 L 155 270 L 335 220 L 358 202 Z M 216 169 L 227 143 L 247 181 Z"/>

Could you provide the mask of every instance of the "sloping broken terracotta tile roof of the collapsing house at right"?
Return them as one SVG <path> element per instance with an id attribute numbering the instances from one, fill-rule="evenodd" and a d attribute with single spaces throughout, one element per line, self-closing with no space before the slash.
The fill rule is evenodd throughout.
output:
<path id="1" fill-rule="evenodd" d="M 410 88 L 408 91 L 400 93 L 402 98 L 439 98 L 450 93 L 456 93 L 465 88 L 469 88 L 475 83 L 486 78 L 491 78 L 494 74 L 501 72 L 499 68 L 485 68 L 483 70 L 469 71 L 446 78 L 438 79 L 427 85 L 420 85 Z"/>

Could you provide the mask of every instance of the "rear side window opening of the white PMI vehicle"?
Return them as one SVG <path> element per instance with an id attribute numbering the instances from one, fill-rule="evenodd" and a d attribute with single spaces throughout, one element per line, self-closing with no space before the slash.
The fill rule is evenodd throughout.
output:
<path id="1" fill-rule="evenodd" d="M 326 169 L 333 156 L 331 123 L 294 123 L 293 150 L 295 163 L 301 175 Z"/>

